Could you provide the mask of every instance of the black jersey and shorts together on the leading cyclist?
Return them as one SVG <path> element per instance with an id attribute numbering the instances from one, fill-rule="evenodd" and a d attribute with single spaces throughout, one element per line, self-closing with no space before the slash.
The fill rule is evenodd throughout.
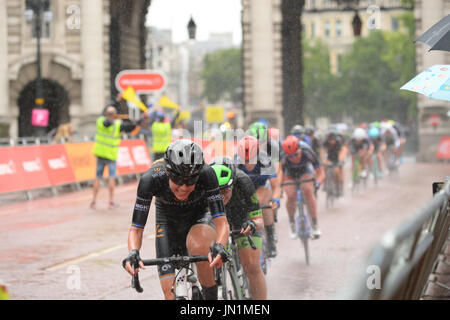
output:
<path id="1" fill-rule="evenodd" d="M 144 229 L 153 197 L 156 198 L 157 258 L 188 254 L 186 237 L 191 227 L 203 223 L 214 228 L 212 219 L 225 216 L 217 176 L 209 165 L 203 166 L 195 189 L 188 199 L 180 201 L 169 187 L 164 160 L 156 161 L 139 181 L 133 227 Z M 174 272 L 175 268 L 171 264 L 158 266 L 160 278 L 173 276 Z"/>

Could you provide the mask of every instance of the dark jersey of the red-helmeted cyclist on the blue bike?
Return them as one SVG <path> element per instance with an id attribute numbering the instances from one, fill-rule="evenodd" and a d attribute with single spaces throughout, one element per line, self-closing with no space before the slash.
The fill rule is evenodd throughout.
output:
<path id="1" fill-rule="evenodd" d="M 298 178 L 305 173 L 313 173 L 312 170 L 320 168 L 319 157 L 306 142 L 299 141 L 298 147 L 302 150 L 302 158 L 299 163 L 291 162 L 288 155 L 284 155 L 281 160 L 283 173 L 293 178 Z"/>

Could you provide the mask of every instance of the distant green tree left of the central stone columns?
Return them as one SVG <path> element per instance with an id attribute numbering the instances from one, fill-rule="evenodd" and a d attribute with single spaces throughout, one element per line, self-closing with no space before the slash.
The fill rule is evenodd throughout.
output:
<path id="1" fill-rule="evenodd" d="M 241 87 L 241 50 L 224 49 L 204 57 L 202 97 L 209 103 L 220 99 L 233 101 L 236 90 Z"/>

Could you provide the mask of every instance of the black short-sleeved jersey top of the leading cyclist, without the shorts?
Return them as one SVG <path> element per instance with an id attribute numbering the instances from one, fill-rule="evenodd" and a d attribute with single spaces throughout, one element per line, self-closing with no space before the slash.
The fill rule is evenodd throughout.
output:
<path id="1" fill-rule="evenodd" d="M 203 215 L 208 207 L 212 218 L 225 215 L 217 176 L 209 165 L 203 166 L 188 199 L 180 201 L 169 188 L 165 162 L 155 162 L 139 181 L 132 226 L 144 228 L 153 197 L 156 198 L 156 223 L 187 223 Z"/>

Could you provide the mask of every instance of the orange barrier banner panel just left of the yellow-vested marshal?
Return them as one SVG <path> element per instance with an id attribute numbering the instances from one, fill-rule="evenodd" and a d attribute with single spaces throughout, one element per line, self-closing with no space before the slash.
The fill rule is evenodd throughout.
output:
<path id="1" fill-rule="evenodd" d="M 95 179 L 97 158 L 94 155 L 94 143 L 68 143 L 64 145 L 75 180 L 86 181 Z"/>

